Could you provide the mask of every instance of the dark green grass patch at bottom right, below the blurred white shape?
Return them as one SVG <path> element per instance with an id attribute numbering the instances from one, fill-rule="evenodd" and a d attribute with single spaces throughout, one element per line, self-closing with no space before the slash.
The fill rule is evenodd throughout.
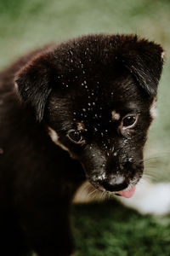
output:
<path id="1" fill-rule="evenodd" d="M 117 201 L 79 205 L 72 216 L 77 256 L 169 256 L 169 217 L 144 217 Z"/>

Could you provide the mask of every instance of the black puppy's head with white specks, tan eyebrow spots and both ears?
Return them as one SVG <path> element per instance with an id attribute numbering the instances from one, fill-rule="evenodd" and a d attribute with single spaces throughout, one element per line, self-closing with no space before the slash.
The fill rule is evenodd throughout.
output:
<path id="1" fill-rule="evenodd" d="M 136 36 L 87 36 L 39 55 L 17 76 L 21 100 L 97 189 L 128 189 L 142 176 L 161 55 Z"/>

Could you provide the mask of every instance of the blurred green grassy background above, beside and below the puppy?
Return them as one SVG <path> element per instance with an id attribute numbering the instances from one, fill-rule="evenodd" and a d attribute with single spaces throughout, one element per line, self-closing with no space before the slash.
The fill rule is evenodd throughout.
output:
<path id="1" fill-rule="evenodd" d="M 169 0 L 0 0 L 0 68 L 44 44 L 99 32 L 137 33 L 166 51 L 145 172 L 170 181 Z M 168 217 L 142 217 L 111 201 L 74 207 L 72 218 L 78 256 L 170 255 Z"/>

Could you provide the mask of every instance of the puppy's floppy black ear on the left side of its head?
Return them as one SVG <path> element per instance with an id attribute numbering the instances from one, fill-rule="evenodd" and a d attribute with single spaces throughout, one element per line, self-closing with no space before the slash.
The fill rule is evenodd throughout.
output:
<path id="1" fill-rule="evenodd" d="M 16 90 L 22 102 L 30 104 L 42 121 L 45 104 L 54 84 L 54 68 L 48 53 L 38 55 L 17 74 Z"/>

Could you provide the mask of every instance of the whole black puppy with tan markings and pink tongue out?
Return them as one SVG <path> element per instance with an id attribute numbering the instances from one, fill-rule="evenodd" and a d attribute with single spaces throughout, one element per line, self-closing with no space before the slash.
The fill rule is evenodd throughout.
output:
<path id="1" fill-rule="evenodd" d="M 160 45 L 94 35 L 37 50 L 1 73 L 3 256 L 70 255 L 70 203 L 87 179 L 133 195 L 162 64 Z"/>

